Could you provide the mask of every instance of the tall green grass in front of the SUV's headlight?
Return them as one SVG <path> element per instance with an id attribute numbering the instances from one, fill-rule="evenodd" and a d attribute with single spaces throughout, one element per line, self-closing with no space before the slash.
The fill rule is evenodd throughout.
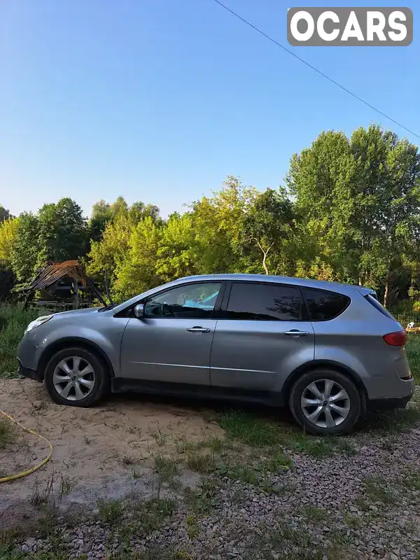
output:
<path id="1" fill-rule="evenodd" d="M 27 325 L 48 311 L 23 309 L 21 305 L 0 306 L 0 377 L 18 377 L 16 350 Z"/>

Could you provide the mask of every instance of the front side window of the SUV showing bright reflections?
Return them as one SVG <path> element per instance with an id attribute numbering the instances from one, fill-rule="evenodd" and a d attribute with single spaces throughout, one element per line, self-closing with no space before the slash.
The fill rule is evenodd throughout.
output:
<path id="1" fill-rule="evenodd" d="M 156 318 L 211 318 L 220 289 L 220 282 L 178 286 L 147 300 L 144 314 Z"/>

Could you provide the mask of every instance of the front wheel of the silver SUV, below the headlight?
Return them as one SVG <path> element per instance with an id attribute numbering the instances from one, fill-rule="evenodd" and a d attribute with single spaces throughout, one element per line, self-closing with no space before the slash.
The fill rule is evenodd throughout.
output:
<path id="1" fill-rule="evenodd" d="M 91 407 L 109 393 L 110 382 L 102 358 L 78 346 L 59 350 L 45 368 L 45 386 L 59 405 Z"/>

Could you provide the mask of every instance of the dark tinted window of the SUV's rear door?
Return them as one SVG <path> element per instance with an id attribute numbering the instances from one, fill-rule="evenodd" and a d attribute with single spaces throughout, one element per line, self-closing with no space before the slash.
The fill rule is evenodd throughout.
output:
<path id="1" fill-rule="evenodd" d="M 299 288 L 251 282 L 233 283 L 227 316 L 253 321 L 299 321 L 301 307 Z"/>

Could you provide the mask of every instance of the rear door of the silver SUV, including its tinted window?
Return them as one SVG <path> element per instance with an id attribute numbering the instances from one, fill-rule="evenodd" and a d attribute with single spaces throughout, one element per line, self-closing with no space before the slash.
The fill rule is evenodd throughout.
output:
<path id="1" fill-rule="evenodd" d="M 211 385 L 280 391 L 290 372 L 314 359 L 314 346 L 299 286 L 232 282 L 211 349 Z"/>

